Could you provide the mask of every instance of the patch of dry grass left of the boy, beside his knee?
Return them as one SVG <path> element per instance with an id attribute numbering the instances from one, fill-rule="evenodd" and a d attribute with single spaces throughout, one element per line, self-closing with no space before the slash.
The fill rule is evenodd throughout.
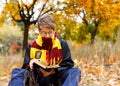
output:
<path id="1" fill-rule="evenodd" d="M 21 54 L 0 55 L 0 81 L 8 82 L 11 72 L 16 67 L 21 67 L 23 57 Z"/>

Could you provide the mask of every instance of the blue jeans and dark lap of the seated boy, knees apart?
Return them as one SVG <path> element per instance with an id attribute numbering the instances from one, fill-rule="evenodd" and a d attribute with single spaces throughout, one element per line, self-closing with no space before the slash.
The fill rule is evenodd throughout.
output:
<path id="1" fill-rule="evenodd" d="M 35 81 L 39 82 L 39 85 L 37 86 L 78 86 L 81 78 L 80 74 L 81 73 L 78 68 L 71 68 L 47 77 L 42 76 L 41 73 L 34 77 Z M 11 80 L 8 86 L 25 86 L 25 78 L 27 78 L 26 75 L 27 77 L 31 76 L 31 72 L 26 69 L 15 68 L 12 71 Z"/>

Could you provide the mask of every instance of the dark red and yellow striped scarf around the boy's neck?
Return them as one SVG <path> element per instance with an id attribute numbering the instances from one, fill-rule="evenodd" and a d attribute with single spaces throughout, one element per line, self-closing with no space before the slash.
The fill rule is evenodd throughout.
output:
<path id="1" fill-rule="evenodd" d="M 62 48 L 57 37 L 44 38 L 40 35 L 32 44 L 30 58 L 38 59 L 46 66 L 59 65 L 62 61 Z"/>

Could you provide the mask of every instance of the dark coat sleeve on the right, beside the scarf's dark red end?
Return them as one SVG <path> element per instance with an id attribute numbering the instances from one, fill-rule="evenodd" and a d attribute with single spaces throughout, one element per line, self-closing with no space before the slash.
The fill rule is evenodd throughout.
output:
<path id="1" fill-rule="evenodd" d="M 60 63 L 60 67 L 57 69 L 58 71 L 69 69 L 74 66 L 74 62 L 71 58 L 71 52 L 70 52 L 67 42 L 63 39 L 60 39 L 60 42 L 62 46 L 63 60 Z"/>

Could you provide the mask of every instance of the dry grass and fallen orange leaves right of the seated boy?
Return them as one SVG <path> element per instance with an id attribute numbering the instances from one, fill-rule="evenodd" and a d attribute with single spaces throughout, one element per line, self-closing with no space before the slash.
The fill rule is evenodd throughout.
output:
<path id="1" fill-rule="evenodd" d="M 120 42 L 114 45 L 72 46 L 69 43 L 75 66 L 81 70 L 79 86 L 119 86 L 120 85 Z"/>

